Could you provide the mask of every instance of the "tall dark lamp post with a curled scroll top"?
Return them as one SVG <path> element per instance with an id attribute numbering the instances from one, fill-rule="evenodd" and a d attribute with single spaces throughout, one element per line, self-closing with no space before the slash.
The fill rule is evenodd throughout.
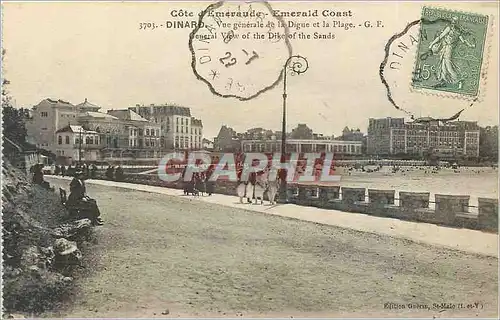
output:
<path id="1" fill-rule="evenodd" d="M 282 119 L 282 127 L 281 127 L 281 162 L 284 163 L 286 161 L 286 99 L 287 99 L 287 74 L 290 72 L 290 75 L 295 76 L 302 74 L 307 71 L 309 68 L 309 64 L 306 58 L 302 56 L 291 56 L 289 57 L 285 65 L 283 66 L 283 119 Z M 284 172 L 284 171 L 282 171 Z M 283 203 L 287 202 L 287 181 L 286 176 L 283 174 L 281 180 L 281 192 L 280 199 Z"/>

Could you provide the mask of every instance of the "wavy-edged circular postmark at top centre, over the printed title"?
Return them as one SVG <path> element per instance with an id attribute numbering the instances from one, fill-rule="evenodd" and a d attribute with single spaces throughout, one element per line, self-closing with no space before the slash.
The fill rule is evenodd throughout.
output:
<path id="1" fill-rule="evenodd" d="M 289 32 L 267 2 L 217 2 L 189 37 L 191 66 L 210 91 L 250 100 L 276 86 L 292 56 Z"/>

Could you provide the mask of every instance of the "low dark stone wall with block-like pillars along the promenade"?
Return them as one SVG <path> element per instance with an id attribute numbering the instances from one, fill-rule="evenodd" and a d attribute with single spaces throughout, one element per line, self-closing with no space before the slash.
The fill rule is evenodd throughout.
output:
<path id="1" fill-rule="evenodd" d="M 165 182 L 156 174 L 125 174 L 123 182 L 183 188 L 182 182 Z M 236 196 L 236 188 L 236 182 L 218 181 L 214 193 Z M 469 212 L 470 196 L 463 195 L 436 194 L 431 201 L 429 192 L 401 191 L 396 199 L 395 190 L 304 184 L 288 184 L 287 193 L 289 202 L 297 205 L 498 232 L 497 199 L 479 198 L 476 215 Z M 268 200 L 267 195 L 264 200 Z M 398 205 L 395 200 L 399 200 Z M 435 209 L 429 207 L 431 202 Z"/>

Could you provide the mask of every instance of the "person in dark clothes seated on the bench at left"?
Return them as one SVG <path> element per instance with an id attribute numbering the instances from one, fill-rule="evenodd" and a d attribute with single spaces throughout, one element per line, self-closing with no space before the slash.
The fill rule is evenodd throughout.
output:
<path id="1" fill-rule="evenodd" d="M 76 171 L 75 177 L 69 185 L 68 206 L 71 209 L 78 210 L 82 218 L 90 219 L 93 225 L 102 225 L 101 212 L 99 211 L 97 202 L 87 196 L 83 176 L 82 170 Z"/>

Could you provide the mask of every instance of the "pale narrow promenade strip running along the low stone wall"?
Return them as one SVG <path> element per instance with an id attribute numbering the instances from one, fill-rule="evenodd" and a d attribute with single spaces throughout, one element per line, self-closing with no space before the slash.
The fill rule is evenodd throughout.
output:
<path id="1" fill-rule="evenodd" d="M 69 182 L 69 180 L 71 180 L 69 177 L 47 177 L 50 177 L 49 181 L 54 179 L 68 180 Z M 468 253 L 498 257 L 498 235 L 478 230 L 456 229 L 422 222 L 374 217 L 365 214 L 306 207 L 294 204 L 278 204 L 274 206 L 270 206 L 268 202 L 264 203 L 264 205 L 241 204 L 236 196 L 233 197 L 221 194 L 213 194 L 210 197 L 184 196 L 182 194 L 182 190 L 178 189 L 168 189 L 164 187 L 108 180 L 89 179 L 87 180 L 87 183 L 184 197 L 193 201 L 213 203 L 263 214 L 277 215 L 356 231 L 387 235 L 390 237 L 407 239 L 418 243 L 440 246 Z"/>

